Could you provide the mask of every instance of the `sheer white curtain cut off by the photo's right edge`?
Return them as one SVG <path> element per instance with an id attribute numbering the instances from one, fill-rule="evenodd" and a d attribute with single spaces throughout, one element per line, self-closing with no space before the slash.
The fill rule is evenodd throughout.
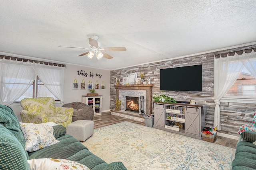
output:
<path id="1" fill-rule="evenodd" d="M 238 55 L 236 53 L 235 55 L 240 59 L 240 61 L 242 61 L 246 69 L 256 79 L 256 52 L 252 50 L 252 52 L 248 54 L 243 52 L 242 55 Z"/>

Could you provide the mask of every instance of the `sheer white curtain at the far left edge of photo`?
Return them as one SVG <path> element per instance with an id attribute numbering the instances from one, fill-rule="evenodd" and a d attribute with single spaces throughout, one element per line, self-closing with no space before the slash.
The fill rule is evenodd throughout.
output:
<path id="1" fill-rule="evenodd" d="M 29 63 L 0 59 L 0 104 L 9 106 L 31 86 L 36 73 Z"/>

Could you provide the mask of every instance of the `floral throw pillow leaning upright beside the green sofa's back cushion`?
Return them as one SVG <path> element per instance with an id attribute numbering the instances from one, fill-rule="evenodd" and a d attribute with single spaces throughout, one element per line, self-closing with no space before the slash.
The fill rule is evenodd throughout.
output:
<path id="1" fill-rule="evenodd" d="M 20 122 L 20 128 L 25 138 L 25 150 L 28 152 L 34 152 L 59 142 L 55 139 L 53 128 L 50 125 Z"/>

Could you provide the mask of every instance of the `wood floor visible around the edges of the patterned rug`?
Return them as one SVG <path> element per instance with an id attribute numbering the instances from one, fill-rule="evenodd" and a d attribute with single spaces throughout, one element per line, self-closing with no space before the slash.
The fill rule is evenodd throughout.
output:
<path id="1" fill-rule="evenodd" d="M 110 112 L 104 112 L 104 113 L 102 113 L 102 115 L 94 116 L 92 120 L 94 121 L 94 129 L 99 128 L 99 127 L 104 127 L 107 125 L 112 125 L 115 123 L 120 123 L 123 121 L 130 121 L 132 123 L 145 125 L 144 122 L 135 121 L 132 119 L 128 119 L 128 118 L 120 117 L 120 116 L 116 116 L 116 115 L 111 115 Z M 226 147 L 236 149 L 237 140 L 226 138 L 226 137 L 216 136 L 216 140 L 214 143 L 216 143 L 218 145 L 223 145 Z"/>

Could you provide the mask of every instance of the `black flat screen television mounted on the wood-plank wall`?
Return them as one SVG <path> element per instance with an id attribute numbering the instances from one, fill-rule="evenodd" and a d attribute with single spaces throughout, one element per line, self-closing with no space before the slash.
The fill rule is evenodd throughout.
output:
<path id="1" fill-rule="evenodd" d="M 202 91 L 202 64 L 160 69 L 160 90 Z"/>

